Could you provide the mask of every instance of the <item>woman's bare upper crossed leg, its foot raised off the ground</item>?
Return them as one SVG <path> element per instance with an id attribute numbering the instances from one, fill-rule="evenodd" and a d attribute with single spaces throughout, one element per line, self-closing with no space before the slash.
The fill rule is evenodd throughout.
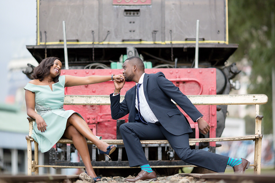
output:
<path id="1" fill-rule="evenodd" d="M 109 146 L 106 142 L 103 142 L 99 140 L 93 132 L 90 130 L 88 124 L 77 114 L 73 113 L 67 121 L 66 128 L 72 125 L 76 128 L 79 133 L 81 133 L 84 137 L 89 139 L 91 142 L 93 142 L 98 149 L 101 151 L 106 151 L 107 147 Z M 80 155 L 81 156 L 81 155 Z M 82 157 L 82 156 L 81 156 Z M 83 159 L 83 158 L 82 158 Z"/>

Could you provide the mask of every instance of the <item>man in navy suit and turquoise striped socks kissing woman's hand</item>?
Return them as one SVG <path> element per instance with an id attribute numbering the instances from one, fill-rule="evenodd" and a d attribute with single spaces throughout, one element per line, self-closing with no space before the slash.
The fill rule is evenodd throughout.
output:
<path id="1" fill-rule="evenodd" d="M 244 173 L 250 162 L 243 158 L 230 158 L 190 149 L 189 133 L 193 131 L 186 117 L 171 99 L 198 123 L 201 133 L 207 134 L 210 126 L 192 102 L 162 72 L 145 74 L 143 61 L 139 57 L 126 59 L 123 69 L 125 79 L 123 82 L 114 81 L 115 91 L 110 94 L 111 114 L 117 120 L 129 113 L 129 123 L 122 124 L 119 130 L 130 167 L 141 167 L 137 177 L 125 179 L 126 181 L 157 180 L 156 173 L 146 160 L 140 140 L 167 139 L 186 163 L 215 172 L 224 172 L 226 165 L 230 165 L 235 173 Z M 134 81 L 136 85 L 126 92 L 123 102 L 119 103 L 119 93 L 125 81 Z"/>

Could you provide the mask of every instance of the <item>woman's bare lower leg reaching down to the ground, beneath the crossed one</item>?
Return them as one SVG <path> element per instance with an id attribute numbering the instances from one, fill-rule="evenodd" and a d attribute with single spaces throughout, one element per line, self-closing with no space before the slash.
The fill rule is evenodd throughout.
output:
<path id="1" fill-rule="evenodd" d="M 69 125 L 66 128 L 63 137 L 73 141 L 75 148 L 78 150 L 79 155 L 82 158 L 87 174 L 93 178 L 97 177 L 91 164 L 90 154 L 85 137 L 72 125 Z"/>

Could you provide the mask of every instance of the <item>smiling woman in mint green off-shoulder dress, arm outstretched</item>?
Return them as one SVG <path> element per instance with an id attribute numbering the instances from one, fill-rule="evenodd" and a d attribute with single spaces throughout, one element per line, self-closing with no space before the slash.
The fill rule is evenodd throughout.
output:
<path id="1" fill-rule="evenodd" d="M 111 79 L 123 81 L 123 75 L 60 76 L 61 67 L 62 63 L 57 57 L 42 60 L 34 69 L 33 80 L 24 87 L 27 114 L 35 119 L 31 137 L 38 142 L 41 152 L 50 150 L 61 137 L 72 139 L 87 174 L 95 181 L 100 181 L 91 164 L 86 138 L 106 156 L 110 155 L 116 147 L 108 145 L 95 136 L 79 113 L 63 109 L 64 87 L 101 83 Z"/>

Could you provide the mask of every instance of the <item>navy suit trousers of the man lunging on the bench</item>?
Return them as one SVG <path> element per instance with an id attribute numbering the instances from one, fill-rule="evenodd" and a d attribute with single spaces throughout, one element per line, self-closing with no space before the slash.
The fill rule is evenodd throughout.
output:
<path id="1" fill-rule="evenodd" d="M 215 172 L 224 172 L 228 156 L 202 149 L 190 149 L 188 133 L 173 135 L 161 124 L 124 123 L 119 127 L 130 167 L 147 164 L 140 140 L 168 140 L 178 157 L 186 163 Z"/>

